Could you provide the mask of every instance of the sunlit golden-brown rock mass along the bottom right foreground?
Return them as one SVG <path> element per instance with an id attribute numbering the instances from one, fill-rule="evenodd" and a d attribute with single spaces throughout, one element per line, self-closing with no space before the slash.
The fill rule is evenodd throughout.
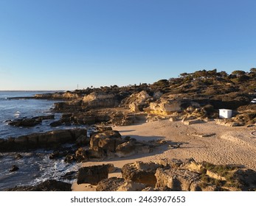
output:
<path id="1" fill-rule="evenodd" d="M 129 163 L 122 178 L 103 180 L 97 191 L 256 191 L 256 171 L 241 166 L 188 160 Z"/>

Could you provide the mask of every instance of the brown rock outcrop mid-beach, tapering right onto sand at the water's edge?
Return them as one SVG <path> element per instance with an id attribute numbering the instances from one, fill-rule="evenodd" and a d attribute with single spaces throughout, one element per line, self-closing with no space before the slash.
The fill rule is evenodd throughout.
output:
<path id="1" fill-rule="evenodd" d="M 122 138 L 118 131 L 109 130 L 111 127 L 102 128 L 103 132 L 92 132 L 89 142 L 89 149 L 80 147 L 75 153 L 66 155 L 65 162 L 72 161 L 85 162 L 88 160 L 104 160 L 114 157 L 129 157 L 133 154 L 148 154 L 153 152 L 153 148 L 161 146 L 162 142 L 145 142 L 136 141 L 134 138 Z M 88 138 L 80 135 L 76 143 L 82 141 L 77 145 L 84 146 Z"/>

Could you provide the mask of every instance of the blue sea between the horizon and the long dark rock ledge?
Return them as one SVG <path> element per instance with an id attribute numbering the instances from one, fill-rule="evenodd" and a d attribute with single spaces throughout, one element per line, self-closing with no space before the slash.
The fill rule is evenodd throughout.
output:
<path id="1" fill-rule="evenodd" d="M 8 99 L 12 97 L 30 97 L 36 93 L 46 92 L 0 91 L 0 138 L 16 137 L 18 135 L 51 129 L 47 121 L 44 121 L 40 127 L 32 128 L 10 127 L 7 124 L 10 120 L 46 116 L 51 113 L 54 105 L 53 101 L 42 99 Z"/>

